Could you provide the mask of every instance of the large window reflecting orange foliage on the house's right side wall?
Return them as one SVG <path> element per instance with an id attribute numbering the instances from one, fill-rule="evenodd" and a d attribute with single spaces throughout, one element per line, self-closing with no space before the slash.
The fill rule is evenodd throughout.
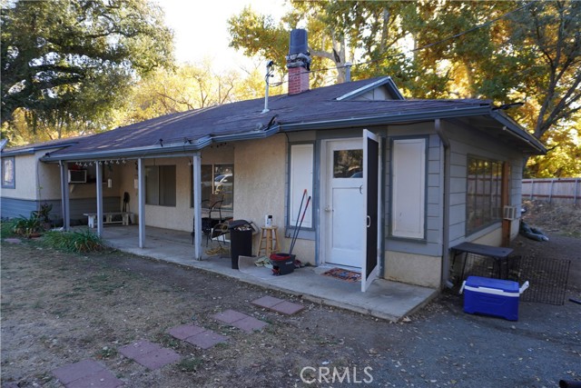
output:
<path id="1" fill-rule="evenodd" d="M 502 163 L 468 156 L 466 232 L 470 234 L 502 217 Z"/>

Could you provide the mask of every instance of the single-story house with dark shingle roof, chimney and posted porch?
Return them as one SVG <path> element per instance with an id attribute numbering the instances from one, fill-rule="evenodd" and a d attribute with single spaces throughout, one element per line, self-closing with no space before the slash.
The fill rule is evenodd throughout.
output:
<path id="1" fill-rule="evenodd" d="M 5 149 L 2 216 L 50 203 L 68 227 L 129 205 L 143 246 L 146 225 L 201 232 L 220 186 L 222 211 L 259 225 L 271 214 L 285 251 L 306 189 L 294 253 L 360 270 L 363 290 L 374 277 L 441 287 L 450 247 L 517 235 L 524 158 L 546 149 L 503 109 L 405 99 L 388 76 L 310 89 L 304 57 L 290 55 L 288 95 Z"/>

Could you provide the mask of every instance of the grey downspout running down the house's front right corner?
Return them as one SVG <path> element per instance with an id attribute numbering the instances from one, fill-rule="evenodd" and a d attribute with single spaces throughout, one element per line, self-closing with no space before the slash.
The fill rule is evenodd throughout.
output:
<path id="1" fill-rule="evenodd" d="M 452 288 L 454 284 L 449 281 L 450 274 L 450 256 L 449 256 L 449 236 L 450 236 L 450 141 L 444 134 L 441 126 L 441 120 L 434 120 L 434 129 L 442 144 L 444 145 L 444 205 L 442 209 L 442 275 L 441 279 L 444 285 Z"/>

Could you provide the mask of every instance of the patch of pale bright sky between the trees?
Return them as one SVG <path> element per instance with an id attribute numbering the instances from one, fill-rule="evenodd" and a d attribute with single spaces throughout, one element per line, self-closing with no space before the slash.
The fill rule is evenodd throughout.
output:
<path id="1" fill-rule="evenodd" d="M 228 18 L 239 14 L 245 5 L 275 18 L 284 14 L 284 0 L 157 0 L 157 3 L 165 12 L 166 25 L 173 30 L 176 60 L 199 64 L 209 59 L 217 70 L 256 63 L 228 46 Z"/>

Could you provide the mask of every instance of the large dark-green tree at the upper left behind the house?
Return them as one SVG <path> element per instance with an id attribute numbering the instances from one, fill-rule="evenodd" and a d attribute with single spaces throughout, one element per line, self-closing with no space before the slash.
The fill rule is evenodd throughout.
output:
<path id="1" fill-rule="evenodd" d="M 2 9 L 2 124 L 95 131 L 136 76 L 172 65 L 172 33 L 147 0 L 16 1 Z M 8 123 L 9 124 L 9 123 Z"/>

